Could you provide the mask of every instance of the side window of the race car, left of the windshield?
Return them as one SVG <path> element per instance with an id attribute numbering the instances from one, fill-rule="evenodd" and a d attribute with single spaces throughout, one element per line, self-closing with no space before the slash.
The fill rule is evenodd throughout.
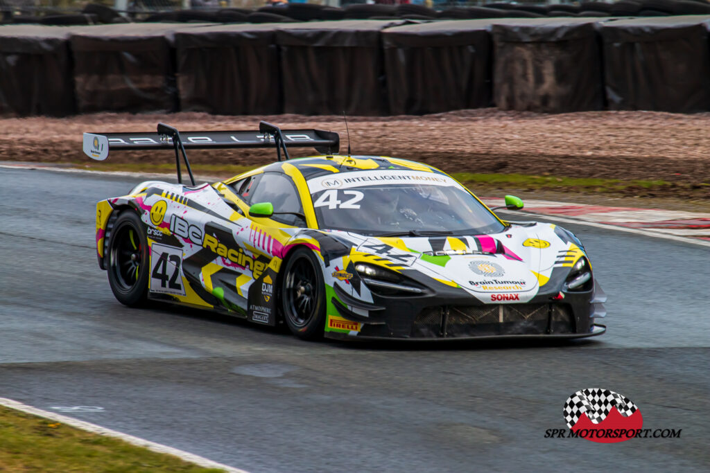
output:
<path id="1" fill-rule="evenodd" d="M 303 213 L 301 199 L 291 179 L 275 172 L 265 172 L 261 175 L 256 189 L 251 192 L 251 204 L 271 202 L 274 212 Z M 290 213 L 274 215 L 271 218 L 286 225 L 305 226 L 303 218 Z"/>

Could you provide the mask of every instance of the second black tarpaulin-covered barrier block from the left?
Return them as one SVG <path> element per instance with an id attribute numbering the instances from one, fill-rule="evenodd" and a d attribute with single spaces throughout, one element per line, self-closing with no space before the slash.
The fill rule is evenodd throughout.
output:
<path id="1" fill-rule="evenodd" d="M 72 33 L 79 111 L 176 110 L 168 35 L 178 28 L 185 25 L 123 23 L 85 26 Z"/>

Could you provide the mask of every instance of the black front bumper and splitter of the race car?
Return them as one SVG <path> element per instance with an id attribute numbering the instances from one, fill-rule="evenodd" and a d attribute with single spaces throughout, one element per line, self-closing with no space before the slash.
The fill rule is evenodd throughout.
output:
<path id="1" fill-rule="evenodd" d="M 341 291 L 335 292 L 339 297 L 330 301 L 329 313 L 359 325 L 358 330 L 326 331 L 327 338 L 585 338 L 606 331 L 606 327 L 594 323 L 595 316 L 606 313 L 596 289 L 565 292 L 564 299 L 556 299 L 559 291 L 541 291 L 525 304 L 483 304 L 469 294 L 462 294 L 461 289 L 443 285 L 422 296 L 373 294 L 371 305 L 355 301 Z M 348 305 L 361 310 L 356 313 Z M 365 308 L 369 309 L 368 315 L 360 315 Z"/>

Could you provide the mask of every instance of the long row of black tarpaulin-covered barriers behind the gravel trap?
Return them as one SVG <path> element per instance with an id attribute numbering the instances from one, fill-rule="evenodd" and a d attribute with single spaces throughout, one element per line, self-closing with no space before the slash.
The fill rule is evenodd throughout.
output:
<path id="1" fill-rule="evenodd" d="M 0 114 L 710 111 L 710 15 L 585 16 L 603 5 L 558 18 L 0 26 Z"/>

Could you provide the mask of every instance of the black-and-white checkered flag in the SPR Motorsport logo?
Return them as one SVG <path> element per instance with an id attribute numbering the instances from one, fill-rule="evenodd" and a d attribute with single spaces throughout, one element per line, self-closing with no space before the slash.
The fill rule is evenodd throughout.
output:
<path id="1" fill-rule="evenodd" d="M 562 414 L 567 421 L 567 427 L 572 428 L 583 413 L 591 423 L 603 421 L 612 407 L 624 417 L 629 417 L 638 407 L 628 397 L 609 391 L 608 389 L 582 389 L 567 398 Z"/>

